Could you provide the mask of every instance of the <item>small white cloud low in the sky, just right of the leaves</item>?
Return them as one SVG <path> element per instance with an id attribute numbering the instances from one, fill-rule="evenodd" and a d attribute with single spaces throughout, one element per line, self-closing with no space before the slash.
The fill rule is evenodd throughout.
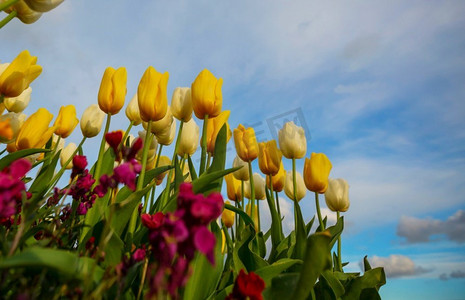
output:
<path id="1" fill-rule="evenodd" d="M 371 267 L 383 267 L 386 277 L 406 277 L 428 273 L 431 270 L 415 265 L 413 260 L 405 255 L 389 255 L 388 257 L 373 256 L 368 258 Z M 362 263 L 360 263 L 362 268 Z"/>

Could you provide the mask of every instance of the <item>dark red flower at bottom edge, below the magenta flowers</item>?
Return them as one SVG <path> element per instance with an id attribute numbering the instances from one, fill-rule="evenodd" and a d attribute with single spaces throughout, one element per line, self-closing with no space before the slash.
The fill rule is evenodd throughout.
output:
<path id="1" fill-rule="evenodd" d="M 254 272 L 246 274 L 242 269 L 237 275 L 232 293 L 226 297 L 226 300 L 262 300 L 264 289 L 265 282 L 260 276 Z"/>

